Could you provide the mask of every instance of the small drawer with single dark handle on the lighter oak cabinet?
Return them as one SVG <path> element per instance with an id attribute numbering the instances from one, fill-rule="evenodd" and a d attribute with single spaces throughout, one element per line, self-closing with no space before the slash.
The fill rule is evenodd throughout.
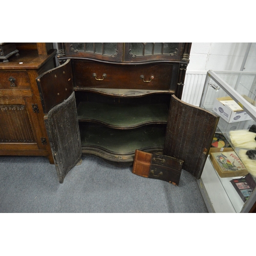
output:
<path id="1" fill-rule="evenodd" d="M 30 80 L 25 71 L 1 71 L 0 89 L 30 89 Z"/>

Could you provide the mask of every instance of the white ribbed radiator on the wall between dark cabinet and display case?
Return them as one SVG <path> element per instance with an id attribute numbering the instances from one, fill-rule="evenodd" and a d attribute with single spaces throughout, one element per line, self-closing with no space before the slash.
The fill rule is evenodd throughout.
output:
<path id="1" fill-rule="evenodd" d="M 207 72 L 187 71 L 184 81 L 182 100 L 199 106 Z"/>

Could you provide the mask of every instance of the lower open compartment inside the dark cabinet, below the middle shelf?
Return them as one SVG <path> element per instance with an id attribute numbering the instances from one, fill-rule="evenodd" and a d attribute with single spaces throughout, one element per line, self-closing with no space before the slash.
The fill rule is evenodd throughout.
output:
<path id="1" fill-rule="evenodd" d="M 109 160 L 133 161 L 135 150 L 163 150 L 166 125 L 144 125 L 136 129 L 113 129 L 90 122 L 80 123 L 82 152 L 101 155 L 109 153 Z M 118 157 L 119 156 L 119 157 Z"/>

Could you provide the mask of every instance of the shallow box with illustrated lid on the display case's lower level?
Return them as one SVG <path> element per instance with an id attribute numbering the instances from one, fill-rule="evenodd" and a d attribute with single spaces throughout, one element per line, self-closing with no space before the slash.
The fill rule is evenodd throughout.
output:
<path id="1" fill-rule="evenodd" d="M 221 178 L 240 177 L 248 174 L 248 170 L 231 147 L 211 147 L 209 155 Z"/>

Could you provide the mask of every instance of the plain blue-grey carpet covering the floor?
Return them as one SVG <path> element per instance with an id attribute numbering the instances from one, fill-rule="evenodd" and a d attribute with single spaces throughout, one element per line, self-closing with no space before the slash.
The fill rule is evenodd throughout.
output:
<path id="1" fill-rule="evenodd" d="M 0 156 L 0 212 L 208 212 L 196 179 L 179 186 L 83 156 L 59 184 L 45 157 Z"/>

